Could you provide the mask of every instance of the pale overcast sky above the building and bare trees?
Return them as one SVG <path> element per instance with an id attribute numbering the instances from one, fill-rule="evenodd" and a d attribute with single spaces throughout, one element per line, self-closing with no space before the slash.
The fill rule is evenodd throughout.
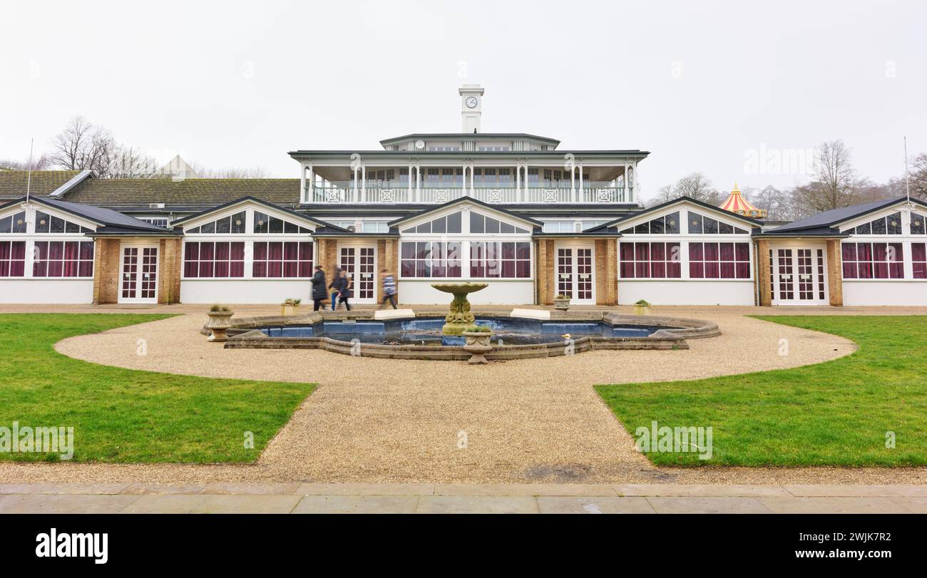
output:
<path id="1" fill-rule="evenodd" d="M 645 196 L 804 182 L 843 139 L 877 182 L 927 152 L 927 3 L 5 2 L 0 158 L 74 115 L 165 161 L 296 177 L 286 152 L 483 132 L 639 148 Z M 777 155 L 789 162 L 778 163 Z"/>

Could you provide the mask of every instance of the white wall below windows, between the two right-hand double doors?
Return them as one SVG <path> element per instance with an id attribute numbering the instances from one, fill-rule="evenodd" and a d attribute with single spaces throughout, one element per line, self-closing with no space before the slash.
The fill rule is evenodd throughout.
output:
<path id="1" fill-rule="evenodd" d="M 753 280 L 630 281 L 618 280 L 618 305 L 644 299 L 652 305 L 753 305 Z"/>

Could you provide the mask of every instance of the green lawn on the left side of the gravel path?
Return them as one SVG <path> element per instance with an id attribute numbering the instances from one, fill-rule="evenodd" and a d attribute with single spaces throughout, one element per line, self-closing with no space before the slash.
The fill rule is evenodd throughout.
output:
<path id="1" fill-rule="evenodd" d="M 74 461 L 252 461 L 314 389 L 95 365 L 54 344 L 169 315 L 0 315 L 0 427 L 73 427 Z M 139 337 L 144 337 L 139 329 Z M 203 337 L 203 346 L 210 346 Z M 215 346 L 213 346 L 215 347 Z M 245 447 L 246 432 L 254 447 Z M 0 460 L 57 460 L 0 452 Z"/>

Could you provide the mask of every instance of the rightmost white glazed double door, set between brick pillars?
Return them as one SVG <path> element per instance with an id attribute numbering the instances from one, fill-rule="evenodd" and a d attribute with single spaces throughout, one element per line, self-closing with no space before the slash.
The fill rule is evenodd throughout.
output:
<path id="1" fill-rule="evenodd" d="M 773 247 L 772 305 L 827 305 L 823 247 Z"/>

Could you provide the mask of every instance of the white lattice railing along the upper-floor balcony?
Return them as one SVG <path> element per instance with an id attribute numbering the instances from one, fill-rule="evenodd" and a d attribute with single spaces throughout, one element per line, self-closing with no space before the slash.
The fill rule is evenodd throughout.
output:
<path id="1" fill-rule="evenodd" d="M 419 189 L 409 188 L 408 182 L 368 182 L 366 189 L 354 189 L 353 182 L 325 182 L 311 188 L 311 203 L 375 205 L 424 204 L 439 205 L 461 197 L 470 197 L 490 204 L 608 204 L 629 203 L 634 198 L 634 189 L 626 190 L 619 183 L 583 182 L 580 188 L 572 189 L 569 182 L 527 182 L 518 188 L 514 183 L 476 183 L 473 187 L 460 182 L 423 182 Z"/>

